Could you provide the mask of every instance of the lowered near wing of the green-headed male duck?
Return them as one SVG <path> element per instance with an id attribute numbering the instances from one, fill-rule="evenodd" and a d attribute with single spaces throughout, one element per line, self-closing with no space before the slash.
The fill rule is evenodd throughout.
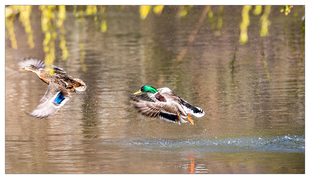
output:
<path id="1" fill-rule="evenodd" d="M 186 123 L 187 121 L 183 120 L 186 116 L 180 114 L 179 109 L 176 105 L 170 102 L 151 102 L 143 100 L 133 100 L 133 107 L 138 109 L 138 112 L 150 116 L 158 117 L 172 123 Z"/>

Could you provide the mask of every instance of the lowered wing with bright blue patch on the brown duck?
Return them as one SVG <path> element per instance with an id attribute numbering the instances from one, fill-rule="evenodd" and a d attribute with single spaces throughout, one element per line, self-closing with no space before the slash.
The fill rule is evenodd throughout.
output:
<path id="1" fill-rule="evenodd" d="M 55 83 L 48 85 L 47 91 L 39 101 L 39 105 L 29 115 L 46 118 L 55 114 L 69 99 L 70 93 Z"/>

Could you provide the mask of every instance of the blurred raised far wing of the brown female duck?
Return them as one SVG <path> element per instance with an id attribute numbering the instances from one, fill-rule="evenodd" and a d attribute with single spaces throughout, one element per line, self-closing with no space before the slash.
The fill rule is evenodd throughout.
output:
<path id="1" fill-rule="evenodd" d="M 51 65 L 51 64 L 45 64 L 44 61 L 38 60 L 35 58 L 25 58 L 19 62 L 20 68 L 24 68 L 26 65 L 34 65 L 37 69 L 45 71 L 45 66 L 50 66 L 54 69 L 56 73 L 60 74 L 67 74 L 68 72 L 65 71 L 64 69 Z"/>

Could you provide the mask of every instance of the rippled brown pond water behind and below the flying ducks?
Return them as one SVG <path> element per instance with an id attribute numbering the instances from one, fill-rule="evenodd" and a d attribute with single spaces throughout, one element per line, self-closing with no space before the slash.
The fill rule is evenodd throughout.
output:
<path id="1" fill-rule="evenodd" d="M 181 20 L 171 11 L 141 20 L 136 7 L 107 7 L 105 33 L 93 16 L 68 10 L 70 57 L 61 60 L 56 49 L 55 63 L 88 88 L 47 119 L 25 114 L 47 84 L 17 65 L 23 57 L 44 59 L 40 11 L 31 16 L 34 49 L 16 20 L 18 50 L 7 45 L 5 59 L 5 172 L 305 173 L 304 12 L 294 21 L 272 11 L 263 39 L 259 16 L 251 15 L 249 41 L 240 45 L 233 41 L 241 8 L 225 6 L 222 34 L 205 19 L 174 64 L 203 9 L 195 8 Z M 129 96 L 143 85 L 169 87 L 206 115 L 193 117 L 195 126 L 142 116 Z"/>

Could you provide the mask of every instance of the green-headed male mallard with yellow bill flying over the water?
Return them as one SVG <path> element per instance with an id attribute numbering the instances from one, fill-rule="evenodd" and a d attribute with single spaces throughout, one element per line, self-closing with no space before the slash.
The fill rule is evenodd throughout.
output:
<path id="1" fill-rule="evenodd" d="M 168 122 L 186 123 L 194 125 L 190 114 L 196 117 L 204 116 L 204 111 L 195 107 L 177 96 L 171 89 L 164 87 L 155 89 L 151 86 L 143 86 L 139 91 L 131 95 L 132 103 L 139 112 L 150 117 L 159 117 Z M 187 116 L 186 116 L 187 115 Z"/>

